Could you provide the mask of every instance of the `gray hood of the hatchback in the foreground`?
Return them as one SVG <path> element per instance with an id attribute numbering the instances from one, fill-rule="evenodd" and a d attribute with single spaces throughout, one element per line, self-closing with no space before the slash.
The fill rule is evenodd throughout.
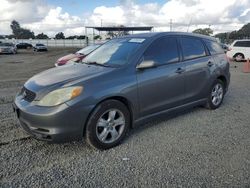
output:
<path id="1" fill-rule="evenodd" d="M 112 70 L 113 68 L 110 67 L 76 63 L 71 66 L 62 66 L 41 72 L 30 78 L 24 84 L 24 87 L 34 92 L 40 92 L 44 89 L 61 87 L 78 79 L 84 81 Z"/>

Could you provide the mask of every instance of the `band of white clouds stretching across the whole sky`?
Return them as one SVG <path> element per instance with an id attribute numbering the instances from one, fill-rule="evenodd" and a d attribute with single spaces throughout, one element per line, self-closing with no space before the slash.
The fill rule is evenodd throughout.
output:
<path id="1" fill-rule="evenodd" d="M 249 0 L 169 0 L 162 6 L 121 0 L 117 6 L 99 6 L 88 16 L 80 17 L 44 0 L 1 0 L 0 34 L 11 33 L 9 25 L 13 19 L 36 34 L 44 32 L 50 36 L 59 31 L 65 35 L 84 34 L 84 25 L 101 23 L 104 26 L 150 25 L 155 31 L 168 31 L 170 19 L 173 29 L 178 31 L 186 31 L 191 22 L 189 31 L 210 26 L 215 32 L 225 32 L 250 22 L 249 7 Z"/>

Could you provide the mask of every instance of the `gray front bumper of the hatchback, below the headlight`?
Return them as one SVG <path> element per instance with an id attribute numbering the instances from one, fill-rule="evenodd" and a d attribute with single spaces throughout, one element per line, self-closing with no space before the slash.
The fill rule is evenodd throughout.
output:
<path id="1" fill-rule="evenodd" d="M 56 107 L 33 105 L 16 97 L 13 109 L 20 126 L 38 140 L 66 142 L 80 140 L 92 106 L 69 106 L 61 104 Z"/>

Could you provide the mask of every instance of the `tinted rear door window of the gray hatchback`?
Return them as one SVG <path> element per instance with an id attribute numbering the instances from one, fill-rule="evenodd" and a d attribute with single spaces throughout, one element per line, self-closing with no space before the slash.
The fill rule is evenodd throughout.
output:
<path id="1" fill-rule="evenodd" d="M 181 46 L 185 60 L 203 57 L 206 55 L 204 45 L 200 39 L 183 37 Z"/>

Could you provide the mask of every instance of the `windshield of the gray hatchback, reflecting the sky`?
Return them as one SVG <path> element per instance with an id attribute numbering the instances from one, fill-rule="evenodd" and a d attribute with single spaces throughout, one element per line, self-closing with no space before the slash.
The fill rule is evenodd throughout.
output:
<path id="1" fill-rule="evenodd" d="M 144 40 L 143 38 L 113 39 L 89 54 L 83 62 L 114 66 L 124 65 Z"/>

